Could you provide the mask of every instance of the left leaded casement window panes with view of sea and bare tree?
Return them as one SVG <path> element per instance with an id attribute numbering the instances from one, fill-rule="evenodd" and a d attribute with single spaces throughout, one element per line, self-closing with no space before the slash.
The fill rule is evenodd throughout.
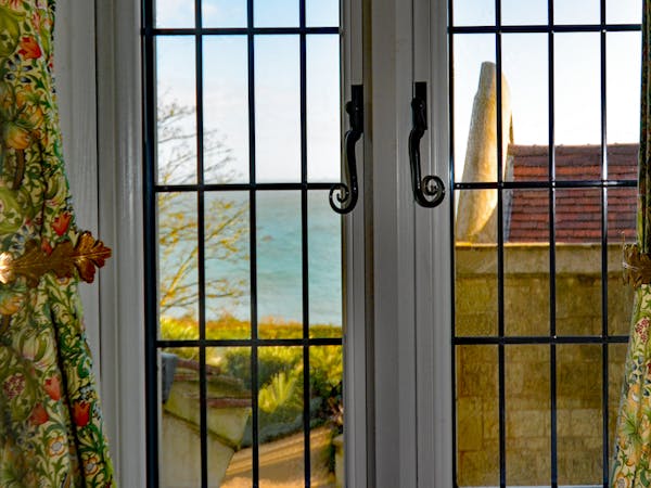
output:
<path id="1" fill-rule="evenodd" d="M 340 18 L 143 4 L 152 486 L 343 484 Z"/>

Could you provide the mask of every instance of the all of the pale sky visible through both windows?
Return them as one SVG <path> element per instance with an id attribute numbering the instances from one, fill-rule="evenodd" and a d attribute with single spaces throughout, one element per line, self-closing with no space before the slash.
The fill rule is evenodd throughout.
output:
<path id="1" fill-rule="evenodd" d="M 158 0 L 161 27 L 190 27 L 187 0 Z M 243 27 L 245 0 L 204 0 L 207 27 Z M 335 25 L 335 0 L 307 0 L 308 25 Z M 607 0 L 609 23 L 639 23 L 641 0 Z M 258 0 L 256 26 L 296 26 L 297 0 Z M 598 23 L 599 0 L 556 0 L 558 24 Z M 459 25 L 495 22 L 494 0 L 456 0 Z M 502 0 L 502 23 L 546 24 L 546 0 Z M 166 97 L 194 101 L 194 40 L 158 40 L 158 81 Z M 520 144 L 548 142 L 547 35 L 502 36 L 502 70 L 511 91 L 514 138 Z M 258 181 L 299 180 L 299 68 L 297 36 L 256 39 L 256 166 Z M 307 44 L 308 177 L 340 178 L 339 38 L 310 36 Z M 554 35 L 557 144 L 600 142 L 599 34 Z M 455 133 L 457 175 L 461 175 L 472 103 L 482 62 L 495 61 L 495 36 L 455 39 Z M 635 142 L 639 131 L 640 34 L 607 35 L 608 142 Z M 246 38 L 204 39 L 204 123 L 232 150 L 230 169 L 246 181 L 248 167 Z M 193 127 L 190 127 L 193 129 Z"/>

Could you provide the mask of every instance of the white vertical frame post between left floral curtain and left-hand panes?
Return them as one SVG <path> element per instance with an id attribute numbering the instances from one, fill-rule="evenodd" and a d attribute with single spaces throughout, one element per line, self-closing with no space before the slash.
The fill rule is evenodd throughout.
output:
<path id="1" fill-rule="evenodd" d="M 120 486 L 144 487 L 140 2 L 95 0 L 99 219 L 113 258 L 100 293 L 102 394 Z"/>

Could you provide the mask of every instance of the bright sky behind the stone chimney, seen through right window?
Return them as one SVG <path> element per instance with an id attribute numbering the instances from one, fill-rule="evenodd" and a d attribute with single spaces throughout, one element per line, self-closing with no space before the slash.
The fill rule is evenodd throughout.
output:
<path id="1" fill-rule="evenodd" d="M 502 23 L 547 24 L 546 0 L 502 0 Z M 600 21 L 599 0 L 556 0 L 557 24 Z M 495 1 L 456 0 L 460 25 L 495 23 Z M 608 0 L 607 22 L 640 23 L 641 0 Z M 600 35 L 554 34 L 554 142 L 599 144 L 601 141 Z M 607 139 L 639 139 L 640 33 L 607 35 Z M 472 103 L 482 61 L 495 62 L 495 36 L 455 38 L 455 160 L 462 175 Z M 502 73 L 511 93 L 514 142 L 545 145 L 548 130 L 548 36 L 502 35 Z"/>

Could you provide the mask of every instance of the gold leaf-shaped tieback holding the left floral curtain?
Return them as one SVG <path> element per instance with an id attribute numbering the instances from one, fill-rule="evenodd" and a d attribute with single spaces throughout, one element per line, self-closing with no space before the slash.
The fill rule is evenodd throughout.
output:
<path id="1" fill-rule="evenodd" d="M 0 254 L 0 283 L 13 283 L 23 277 L 28 286 L 35 287 L 47 272 L 53 272 L 56 278 L 73 278 L 75 270 L 81 280 L 92 283 L 95 268 L 103 267 L 110 257 L 111 248 L 90 232 L 82 232 L 75 246 L 69 241 L 56 244 L 49 255 L 34 240 L 17 258 L 10 253 Z"/>

